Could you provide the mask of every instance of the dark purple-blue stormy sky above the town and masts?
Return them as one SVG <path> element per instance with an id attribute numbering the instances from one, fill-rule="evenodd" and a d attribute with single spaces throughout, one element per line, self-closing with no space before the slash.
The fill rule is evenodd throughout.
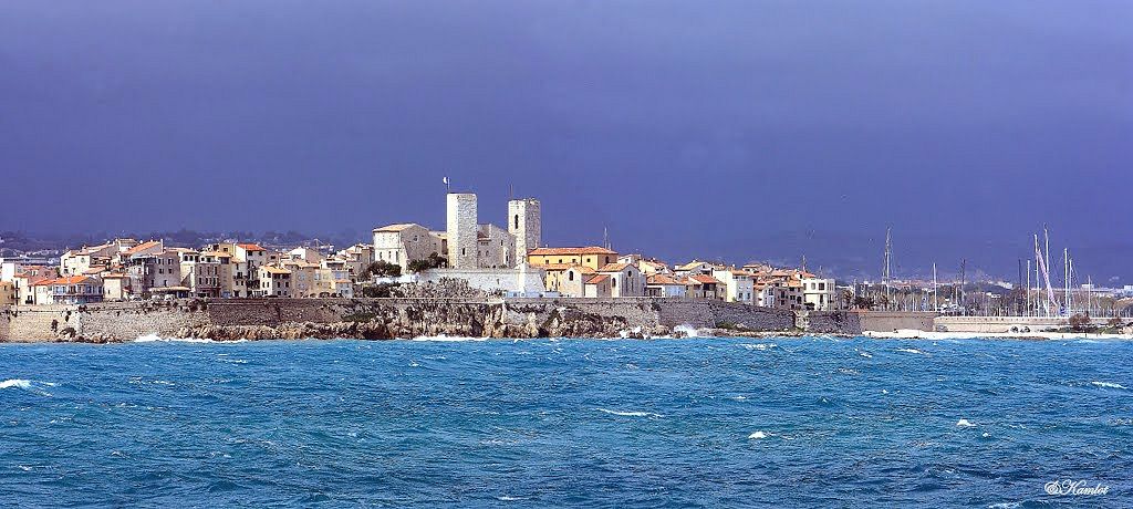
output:
<path id="1" fill-rule="evenodd" d="M 503 223 L 670 261 L 1133 282 L 1133 2 L 0 3 L 0 229 Z M 1114 281 L 1116 282 L 1116 281 Z"/>

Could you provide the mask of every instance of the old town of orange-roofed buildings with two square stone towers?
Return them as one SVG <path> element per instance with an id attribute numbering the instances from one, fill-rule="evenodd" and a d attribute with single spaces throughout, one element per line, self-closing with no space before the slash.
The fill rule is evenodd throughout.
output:
<path id="1" fill-rule="evenodd" d="M 6 260 L 0 305 L 469 295 L 692 298 L 795 311 L 850 304 L 849 289 L 804 269 L 668 264 L 611 245 L 545 245 L 535 198 L 509 201 L 504 227 L 479 222 L 475 194 L 449 193 L 446 202 L 443 230 L 386 224 L 373 230 L 372 243 L 333 252 L 235 239 L 187 247 L 116 238 L 67 251 L 58 264 Z"/>

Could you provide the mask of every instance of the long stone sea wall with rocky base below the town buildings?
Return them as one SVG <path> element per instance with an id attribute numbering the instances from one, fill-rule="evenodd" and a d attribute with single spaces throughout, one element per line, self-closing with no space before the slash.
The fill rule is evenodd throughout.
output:
<path id="1" fill-rule="evenodd" d="M 794 313 L 697 299 L 357 298 L 181 299 L 86 306 L 10 306 L 0 341 L 130 341 L 667 336 L 673 329 L 792 331 Z M 850 331 L 850 333 L 853 333 Z"/>

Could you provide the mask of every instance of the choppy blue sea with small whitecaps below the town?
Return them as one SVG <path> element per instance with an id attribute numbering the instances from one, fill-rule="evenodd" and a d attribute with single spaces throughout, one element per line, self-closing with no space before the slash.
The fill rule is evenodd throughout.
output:
<path id="1" fill-rule="evenodd" d="M 0 507 L 1131 507 L 1130 388 L 1123 341 L 0 345 Z"/>

